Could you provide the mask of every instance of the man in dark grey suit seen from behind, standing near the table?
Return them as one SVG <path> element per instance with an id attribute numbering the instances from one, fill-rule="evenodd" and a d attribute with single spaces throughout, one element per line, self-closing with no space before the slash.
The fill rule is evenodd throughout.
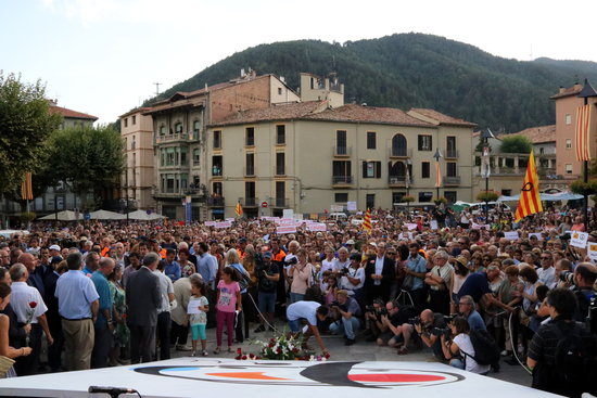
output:
<path id="1" fill-rule="evenodd" d="M 148 253 L 143 257 L 143 266 L 130 274 L 126 285 L 131 363 L 150 362 L 155 358 L 157 308 L 162 297 L 160 282 L 153 271 L 160 259 L 156 253 Z"/>

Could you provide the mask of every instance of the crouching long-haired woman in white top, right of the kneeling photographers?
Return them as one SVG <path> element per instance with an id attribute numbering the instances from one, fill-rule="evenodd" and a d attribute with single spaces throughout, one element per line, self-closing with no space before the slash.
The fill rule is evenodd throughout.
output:
<path id="1" fill-rule="evenodd" d="M 448 329 L 442 331 L 440 339 L 444 357 L 454 368 L 463 369 L 468 372 L 487 374 L 490 365 L 479 364 L 474 360 L 475 351 L 469 336 L 469 322 L 462 317 L 456 317 L 449 322 Z M 454 336 L 450 338 L 450 336 Z"/>

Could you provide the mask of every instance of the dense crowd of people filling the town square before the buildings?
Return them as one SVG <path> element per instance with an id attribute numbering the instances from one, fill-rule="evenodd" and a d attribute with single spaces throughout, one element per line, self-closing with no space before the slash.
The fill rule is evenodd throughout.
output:
<path id="1" fill-rule="evenodd" d="M 552 376 L 562 333 L 597 355 L 597 331 L 574 322 L 590 313 L 597 268 L 570 244 L 570 231 L 597 242 L 596 214 L 588 226 L 566 207 L 519 223 L 503 208 L 483 216 L 378 209 L 370 232 L 359 215 L 280 235 L 272 219 L 34 223 L 0 237 L 0 355 L 15 360 L 9 375 L 168 359 L 172 349 L 217 355 L 280 318 L 293 333 L 307 324 L 305 347 L 315 335 L 326 351 L 325 333 L 398 355 L 428 346 L 486 374 L 498 361 L 475 352 L 483 331 L 507 361 L 533 368 L 535 387 L 562 393 Z"/>

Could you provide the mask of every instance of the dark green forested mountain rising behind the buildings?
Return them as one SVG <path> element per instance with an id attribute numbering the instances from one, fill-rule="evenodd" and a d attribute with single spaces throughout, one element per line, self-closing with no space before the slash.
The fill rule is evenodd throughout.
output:
<path id="1" fill-rule="evenodd" d="M 346 102 L 431 107 L 504 132 L 552 124 L 549 97 L 560 86 L 585 77 L 597 84 L 594 62 L 507 60 L 443 37 L 401 34 L 345 43 L 300 40 L 253 47 L 172 87 L 160 99 L 228 81 L 247 67 L 258 75 L 284 76 L 292 88 L 298 87 L 301 72 L 335 72 L 345 84 Z"/>

